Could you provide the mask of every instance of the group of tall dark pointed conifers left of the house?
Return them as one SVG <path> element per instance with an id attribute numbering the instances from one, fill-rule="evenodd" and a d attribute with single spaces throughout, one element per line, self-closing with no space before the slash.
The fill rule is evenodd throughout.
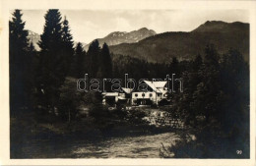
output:
<path id="1" fill-rule="evenodd" d="M 81 43 L 74 45 L 69 22 L 59 10 L 48 10 L 35 51 L 28 40 L 22 11 L 15 10 L 9 22 L 10 106 L 11 112 L 32 110 L 34 106 L 54 110 L 66 77 L 111 77 L 112 65 L 106 43 L 91 43 L 86 52 Z"/>

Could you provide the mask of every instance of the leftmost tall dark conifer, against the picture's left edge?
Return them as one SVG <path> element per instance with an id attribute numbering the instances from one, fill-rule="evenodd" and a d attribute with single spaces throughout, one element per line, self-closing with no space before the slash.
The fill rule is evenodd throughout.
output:
<path id="1" fill-rule="evenodd" d="M 10 53 L 10 105 L 11 110 L 29 106 L 31 90 L 30 58 L 27 54 L 28 31 L 25 30 L 25 22 L 22 20 L 21 10 L 15 10 L 13 18 L 9 22 L 9 53 Z"/>

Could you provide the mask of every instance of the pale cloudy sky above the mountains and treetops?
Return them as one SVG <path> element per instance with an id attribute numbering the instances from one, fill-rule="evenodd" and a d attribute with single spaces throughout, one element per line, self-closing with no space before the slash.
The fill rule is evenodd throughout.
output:
<path id="1" fill-rule="evenodd" d="M 10 18 L 11 13 L 10 11 Z M 22 10 L 26 29 L 42 33 L 46 10 Z M 74 41 L 90 43 L 113 31 L 139 28 L 164 31 L 190 31 L 207 21 L 249 23 L 245 10 L 60 10 L 69 21 Z"/>

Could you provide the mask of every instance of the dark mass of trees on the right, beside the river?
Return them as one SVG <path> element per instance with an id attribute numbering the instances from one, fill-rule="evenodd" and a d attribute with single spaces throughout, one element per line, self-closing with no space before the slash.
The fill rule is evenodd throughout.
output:
<path id="1" fill-rule="evenodd" d="M 186 137 L 169 148 L 175 157 L 249 157 L 249 66 L 236 49 L 220 55 L 207 45 L 205 55 L 182 71 L 184 92 L 172 97 L 172 113 L 191 127 Z M 236 150 L 243 151 L 237 155 Z"/>

